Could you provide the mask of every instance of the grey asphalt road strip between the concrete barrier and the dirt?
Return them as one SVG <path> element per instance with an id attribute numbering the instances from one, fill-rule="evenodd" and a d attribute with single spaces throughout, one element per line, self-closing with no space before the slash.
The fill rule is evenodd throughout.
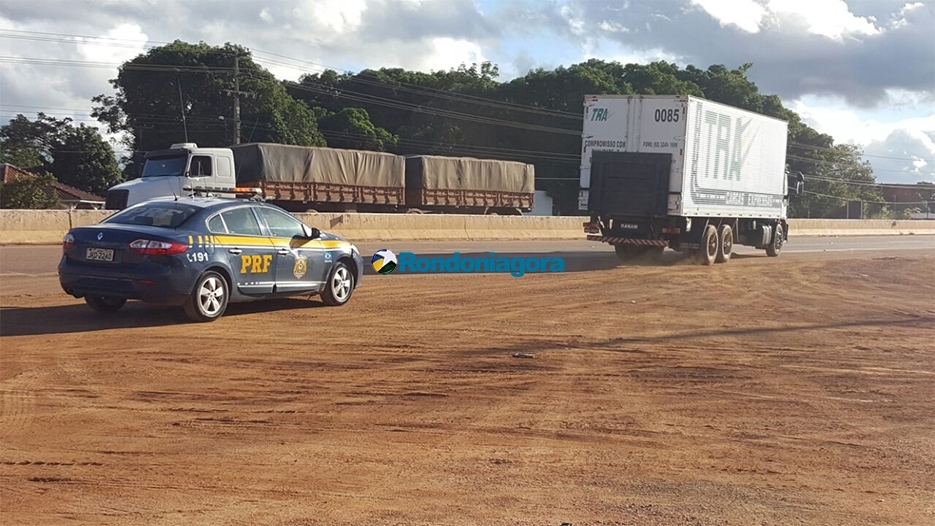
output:
<path id="1" fill-rule="evenodd" d="M 611 268 L 619 264 L 613 249 L 606 244 L 583 241 L 477 241 L 477 242 L 398 242 L 357 243 L 358 249 L 368 260 L 380 249 L 394 253 L 412 252 L 419 256 L 449 255 L 455 252 L 462 256 L 516 257 L 542 255 L 561 257 L 566 271 L 586 271 Z M 795 237 L 783 247 L 782 257 L 808 257 L 809 254 L 829 252 L 929 252 L 935 253 L 935 236 L 848 236 L 848 237 Z M 765 252 L 750 247 L 734 246 L 734 255 L 743 257 L 766 257 Z M 61 248 L 56 245 L 4 246 L 0 247 L 0 276 L 49 275 L 55 274 L 61 257 Z M 675 263 L 681 254 L 666 250 L 662 264 Z M 373 269 L 367 268 L 367 273 Z"/>

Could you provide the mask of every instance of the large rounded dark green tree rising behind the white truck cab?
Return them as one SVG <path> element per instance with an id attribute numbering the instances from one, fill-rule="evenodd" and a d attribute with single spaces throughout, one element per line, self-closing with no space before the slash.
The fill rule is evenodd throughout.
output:
<path id="1" fill-rule="evenodd" d="M 92 115 L 111 133 L 124 133 L 136 151 L 183 142 L 227 146 L 235 142 L 235 59 L 241 97 L 241 141 L 324 146 L 311 108 L 289 96 L 283 83 L 234 44 L 212 47 L 176 40 L 125 62 L 98 95 Z M 184 118 L 183 118 L 184 117 Z"/>

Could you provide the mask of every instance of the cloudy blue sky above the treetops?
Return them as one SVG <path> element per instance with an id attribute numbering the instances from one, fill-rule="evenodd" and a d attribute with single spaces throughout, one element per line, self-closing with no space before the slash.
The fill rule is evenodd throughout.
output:
<path id="1" fill-rule="evenodd" d="M 176 38 L 294 57 L 267 66 L 290 79 L 310 63 L 427 71 L 489 60 L 506 81 L 589 58 L 752 62 L 761 92 L 862 146 L 878 181 L 935 181 L 933 35 L 931 0 L 4 0 L 0 121 L 44 108 L 93 124 L 91 97 L 112 93 L 106 64 Z M 104 66 L 30 60 L 50 58 Z"/>

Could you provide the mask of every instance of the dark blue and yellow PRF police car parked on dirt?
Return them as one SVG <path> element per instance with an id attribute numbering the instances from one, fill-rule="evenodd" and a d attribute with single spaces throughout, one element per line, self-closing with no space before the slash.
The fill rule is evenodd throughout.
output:
<path id="1" fill-rule="evenodd" d="M 98 312 L 133 299 L 209 322 L 234 302 L 317 294 L 344 305 L 363 268 L 353 244 L 277 206 L 167 197 L 69 230 L 58 272 L 62 289 Z"/>

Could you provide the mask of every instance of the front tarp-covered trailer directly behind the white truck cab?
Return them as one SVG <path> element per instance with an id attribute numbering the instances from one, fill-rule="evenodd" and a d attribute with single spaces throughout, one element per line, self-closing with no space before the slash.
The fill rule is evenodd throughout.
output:
<path id="1" fill-rule="evenodd" d="M 390 211 L 405 205 L 405 159 L 364 150 L 249 143 L 231 146 L 237 185 L 292 210 Z M 300 206 L 304 205 L 304 206 Z"/>

